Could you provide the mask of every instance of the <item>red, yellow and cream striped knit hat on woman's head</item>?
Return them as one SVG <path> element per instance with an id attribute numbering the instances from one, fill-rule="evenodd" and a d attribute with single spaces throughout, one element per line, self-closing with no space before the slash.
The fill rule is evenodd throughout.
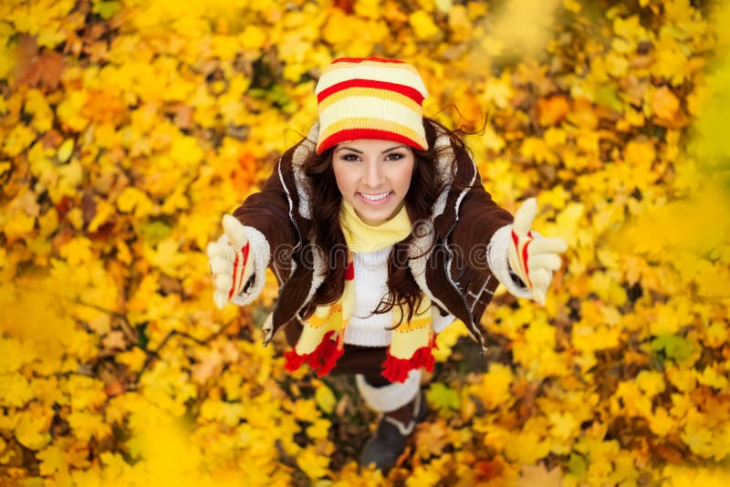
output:
<path id="1" fill-rule="evenodd" d="M 317 88 L 317 153 L 347 140 L 394 140 L 426 150 L 418 71 L 380 57 L 340 57 L 322 71 Z"/>

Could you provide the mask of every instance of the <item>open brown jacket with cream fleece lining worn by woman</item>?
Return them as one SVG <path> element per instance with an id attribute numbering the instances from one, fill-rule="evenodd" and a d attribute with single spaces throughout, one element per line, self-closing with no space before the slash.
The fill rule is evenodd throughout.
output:
<path id="1" fill-rule="evenodd" d="M 298 319 L 318 286 L 323 285 L 322 263 L 308 252 L 315 237 L 308 196 L 313 189 L 302 171 L 309 150 L 315 148 L 317 130 L 315 125 L 305 140 L 287 150 L 261 192 L 246 198 L 234 212 L 241 223 L 263 234 L 269 252 L 263 253 L 267 262 L 256 264 L 255 275 L 233 301 L 245 305 L 258 295 L 266 265 L 280 286 L 269 316 L 266 343 L 281 326 Z M 450 146 L 436 161 L 446 185 L 433 205 L 430 224 L 412 244 L 409 266 L 422 292 L 443 314 L 447 311 L 461 319 L 484 350 L 478 324 L 499 284 L 486 264 L 487 244 L 496 230 L 512 223 L 512 215 L 485 192 L 474 161 L 465 150 L 457 148 L 436 127 L 427 127 L 426 137 L 430 147 Z"/>

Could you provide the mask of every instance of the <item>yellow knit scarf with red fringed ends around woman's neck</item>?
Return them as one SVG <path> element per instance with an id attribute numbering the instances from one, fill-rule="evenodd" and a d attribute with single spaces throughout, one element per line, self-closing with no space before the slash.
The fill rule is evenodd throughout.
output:
<path id="1" fill-rule="evenodd" d="M 344 291 L 337 303 L 317 306 L 314 314 L 304 324 L 297 346 L 285 354 L 288 370 L 296 370 L 303 363 L 308 363 L 318 376 L 322 376 L 335 366 L 345 351 L 345 330 L 356 298 L 352 254 L 370 253 L 391 247 L 411 233 L 411 220 L 405 206 L 391 220 L 378 226 L 370 226 L 360 220 L 349 202 L 343 200 L 339 224 L 349 249 Z M 431 327 L 432 313 L 431 300 L 424 295 L 412 320 L 401 323 L 393 330 L 391 346 L 383 363 L 383 377 L 391 382 L 402 382 L 413 368 L 433 369 L 431 350 L 435 347 L 435 342 Z M 402 316 L 401 306 L 393 307 L 393 326 L 401 322 Z"/>

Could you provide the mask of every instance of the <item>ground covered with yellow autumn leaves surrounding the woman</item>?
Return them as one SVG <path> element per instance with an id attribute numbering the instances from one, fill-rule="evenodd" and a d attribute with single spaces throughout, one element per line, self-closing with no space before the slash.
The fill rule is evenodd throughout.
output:
<path id="1" fill-rule="evenodd" d="M 730 9 L 687 0 L 0 5 L 0 483 L 730 484 Z M 569 244 L 489 350 L 439 337 L 384 478 L 351 378 L 283 367 L 206 244 L 334 57 L 418 67 L 485 187 Z M 484 127 L 485 121 L 486 126 Z"/>

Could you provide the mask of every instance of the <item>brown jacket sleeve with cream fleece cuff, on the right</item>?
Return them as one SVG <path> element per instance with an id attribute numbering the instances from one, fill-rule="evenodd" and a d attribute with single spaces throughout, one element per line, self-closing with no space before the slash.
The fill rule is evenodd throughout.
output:
<path id="1" fill-rule="evenodd" d="M 459 220 L 451 241 L 464 264 L 480 273 L 491 273 L 512 295 L 531 297 L 508 263 L 512 220 L 512 214 L 498 206 L 485 191 L 477 173 L 473 187 L 466 192 L 459 207 Z"/>

